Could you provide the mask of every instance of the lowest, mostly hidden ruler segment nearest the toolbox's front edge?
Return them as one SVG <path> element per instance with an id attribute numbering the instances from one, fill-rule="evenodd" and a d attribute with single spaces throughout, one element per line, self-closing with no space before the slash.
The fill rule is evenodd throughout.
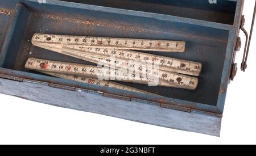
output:
<path id="1" fill-rule="evenodd" d="M 63 78 L 63 79 L 69 79 L 72 81 L 87 83 L 91 85 L 97 85 L 97 86 L 103 86 L 103 87 L 110 87 L 110 88 L 117 88 L 119 90 L 126 90 L 126 91 L 133 91 L 133 92 L 139 92 L 139 93 L 146 93 L 146 94 L 152 94 L 151 92 L 139 90 L 134 87 L 122 85 L 119 83 L 115 83 L 112 81 L 104 81 L 97 78 L 89 78 L 89 77 L 81 77 L 78 75 L 68 75 L 68 74 L 60 74 L 60 73 L 51 73 L 51 72 L 44 72 L 40 71 L 41 73 L 51 75 L 53 77 Z"/>

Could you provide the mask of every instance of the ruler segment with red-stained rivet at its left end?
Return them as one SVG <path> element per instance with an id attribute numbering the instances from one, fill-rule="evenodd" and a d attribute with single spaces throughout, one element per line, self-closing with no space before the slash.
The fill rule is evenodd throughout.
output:
<path id="1" fill-rule="evenodd" d="M 124 82 L 134 82 L 148 85 L 156 83 L 158 86 L 185 88 L 195 90 L 198 85 L 198 79 L 183 74 L 171 73 L 154 69 L 146 69 L 145 71 L 129 72 L 119 71 L 109 68 L 99 68 L 97 66 L 72 64 L 69 62 L 59 62 L 51 60 L 42 60 L 37 58 L 28 58 L 26 69 L 48 71 L 53 73 L 72 74 L 90 78 L 103 78 L 105 80 L 116 80 Z"/>

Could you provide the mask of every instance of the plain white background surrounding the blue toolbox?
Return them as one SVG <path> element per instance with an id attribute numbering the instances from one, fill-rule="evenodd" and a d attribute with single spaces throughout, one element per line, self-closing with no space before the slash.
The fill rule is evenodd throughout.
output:
<path id="1" fill-rule="evenodd" d="M 246 1 L 249 31 L 254 1 Z M 256 26 L 255 26 L 256 27 Z M 256 28 L 248 68 L 226 96 L 221 137 L 48 106 L 0 94 L 0 144 L 256 144 Z M 244 41 L 243 33 L 240 34 Z M 243 44 L 244 45 L 244 44 Z M 243 49 L 237 54 L 240 66 Z"/>

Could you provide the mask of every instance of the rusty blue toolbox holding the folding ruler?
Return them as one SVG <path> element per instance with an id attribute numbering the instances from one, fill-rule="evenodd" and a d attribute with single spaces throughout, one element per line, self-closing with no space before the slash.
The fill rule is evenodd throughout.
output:
<path id="1" fill-rule="evenodd" d="M 0 0 L 0 92 L 60 107 L 220 135 L 243 1 Z M 24 69 L 28 57 L 90 64 L 31 44 L 34 33 L 186 41 L 184 53 L 150 52 L 201 62 L 195 91 L 126 85 L 158 95 L 99 87 Z M 2 103 L 1 99 L 0 102 Z"/>

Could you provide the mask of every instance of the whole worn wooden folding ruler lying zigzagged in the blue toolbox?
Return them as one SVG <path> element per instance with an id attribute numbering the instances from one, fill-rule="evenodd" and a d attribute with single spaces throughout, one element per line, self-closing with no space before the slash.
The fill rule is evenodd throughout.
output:
<path id="1" fill-rule="evenodd" d="M 28 58 L 26 68 L 41 71 L 55 77 L 73 79 L 75 81 L 104 84 L 108 87 L 135 90 L 126 86 L 118 86 L 116 81 L 154 84 L 158 86 L 186 88 L 195 90 L 202 65 L 199 62 L 179 60 L 133 50 L 152 50 L 160 52 L 184 52 L 183 41 L 121 39 L 109 37 L 47 35 L 36 33 L 32 44 L 81 60 L 102 64 L 110 68 L 71 64 L 38 58 Z M 150 66 L 150 67 L 149 67 Z M 157 67 L 157 68 L 152 68 Z M 133 72 L 131 72 L 133 71 Z M 192 75 L 192 76 L 189 76 Z M 148 78 L 150 77 L 151 78 Z M 101 77 L 101 79 L 96 79 Z M 85 80 L 86 79 L 86 80 Z M 103 80 L 104 79 L 104 80 Z M 96 82 L 97 81 L 97 82 Z M 137 90 L 138 91 L 138 90 Z"/>

